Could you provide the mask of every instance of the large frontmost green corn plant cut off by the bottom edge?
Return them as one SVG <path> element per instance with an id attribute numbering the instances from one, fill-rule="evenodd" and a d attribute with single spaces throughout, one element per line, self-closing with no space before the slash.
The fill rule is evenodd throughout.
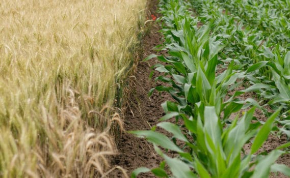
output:
<path id="1" fill-rule="evenodd" d="M 242 118 L 237 116 L 224 129 L 214 106 L 200 107 L 198 110 L 196 120 L 180 116 L 186 123 L 187 133 L 182 133 L 178 125 L 169 122 L 162 122 L 157 127 L 170 132 L 173 135 L 171 138 L 153 130 L 132 133 L 154 144 L 173 177 L 268 177 L 270 171 L 290 175 L 288 167 L 275 163 L 280 155 L 286 153 L 280 149 L 289 146 L 289 143 L 266 156 L 263 155 L 265 153 L 255 154 L 270 134 L 279 110 L 260 127 L 260 123 L 251 122 L 255 110 L 252 108 Z M 182 141 L 185 146 L 176 144 L 176 140 Z M 250 152 L 242 154 L 244 144 L 251 140 Z M 177 152 L 178 157 L 168 157 L 160 147 Z M 147 171 L 159 177 L 170 177 L 172 175 L 166 172 L 165 162 L 158 168 L 138 168 L 131 177 Z"/>

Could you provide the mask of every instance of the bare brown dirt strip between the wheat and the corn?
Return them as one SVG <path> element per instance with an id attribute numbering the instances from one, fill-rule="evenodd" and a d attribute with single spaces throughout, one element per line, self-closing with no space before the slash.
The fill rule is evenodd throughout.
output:
<path id="1" fill-rule="evenodd" d="M 151 0 L 149 9 L 155 15 L 156 0 Z M 150 32 L 146 35 L 143 41 L 143 56 L 146 57 L 152 53 L 154 46 L 161 44 L 162 35 L 158 33 L 159 26 L 152 23 Z M 142 58 L 140 59 L 140 61 Z M 148 91 L 154 87 L 153 78 L 157 76 L 154 74 L 152 80 L 149 80 L 149 74 L 152 71 L 151 66 L 157 63 L 157 60 L 150 60 L 149 62 L 140 62 L 137 66 L 136 78 L 132 81 L 134 90 L 129 96 L 129 106 L 124 114 L 124 129 L 130 130 L 150 130 L 152 126 L 156 125 L 159 118 L 164 114 L 161 103 L 169 100 L 171 97 L 167 94 L 153 93 L 149 98 Z M 159 166 L 161 158 L 154 152 L 152 144 L 145 139 L 137 138 L 134 135 L 123 133 L 118 143 L 119 155 L 113 158 L 112 166 L 121 166 L 127 170 L 128 175 L 141 166 L 153 168 Z M 109 177 L 124 177 L 121 171 L 112 172 Z M 140 174 L 138 177 L 154 177 L 152 174 Z"/>

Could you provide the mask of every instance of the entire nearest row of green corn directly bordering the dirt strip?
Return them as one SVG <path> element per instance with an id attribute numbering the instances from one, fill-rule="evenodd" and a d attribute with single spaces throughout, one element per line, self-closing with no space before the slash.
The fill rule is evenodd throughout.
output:
<path id="1" fill-rule="evenodd" d="M 183 1 L 161 1 L 161 13 L 166 24 L 162 30 L 164 50 L 169 55 L 150 55 L 145 61 L 157 57 L 163 62 L 154 66 L 156 71 L 164 74 L 156 80 L 169 86 L 160 85 L 153 90 L 168 92 L 176 102 L 166 101 L 162 105 L 166 115 L 157 127 L 171 133 L 172 137 L 157 132 L 156 127 L 150 131 L 131 132 L 153 143 L 155 151 L 165 160 L 157 168 L 136 169 L 131 177 L 148 171 L 159 177 L 267 177 L 270 171 L 290 175 L 288 167 L 275 163 L 286 153 L 281 150 L 290 143 L 269 154 L 259 151 L 273 129 L 280 109 L 263 124 L 252 122 L 255 107 L 242 117 L 238 114 L 231 118 L 232 113 L 241 113 L 247 102 L 234 97 L 261 85 L 235 92 L 224 101 L 227 91 L 237 85 L 236 79 L 244 78 L 265 64 L 257 63 L 245 72 L 233 72 L 234 63 L 231 62 L 227 70 L 216 76 L 220 63 L 218 53 L 224 44 L 215 35 L 211 36 L 210 24 L 198 28 L 197 19 L 190 15 Z M 174 124 L 168 122 L 172 117 L 176 118 Z M 251 143 L 249 153 L 244 151 L 246 143 Z M 171 158 L 166 154 L 168 151 L 178 156 Z"/>

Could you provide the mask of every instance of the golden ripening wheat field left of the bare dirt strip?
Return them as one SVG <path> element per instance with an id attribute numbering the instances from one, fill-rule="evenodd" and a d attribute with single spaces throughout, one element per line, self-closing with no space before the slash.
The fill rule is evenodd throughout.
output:
<path id="1" fill-rule="evenodd" d="M 0 2 L 0 177 L 106 176 L 145 6 Z"/>

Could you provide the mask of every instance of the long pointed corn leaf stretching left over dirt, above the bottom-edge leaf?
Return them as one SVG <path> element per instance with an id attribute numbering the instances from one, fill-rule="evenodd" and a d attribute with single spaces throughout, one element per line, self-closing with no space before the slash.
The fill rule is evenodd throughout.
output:
<path id="1" fill-rule="evenodd" d="M 145 137 L 149 142 L 155 143 L 164 147 L 165 149 L 183 153 L 178 146 L 176 146 L 167 136 L 154 131 L 130 131 L 138 137 Z"/>

